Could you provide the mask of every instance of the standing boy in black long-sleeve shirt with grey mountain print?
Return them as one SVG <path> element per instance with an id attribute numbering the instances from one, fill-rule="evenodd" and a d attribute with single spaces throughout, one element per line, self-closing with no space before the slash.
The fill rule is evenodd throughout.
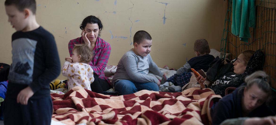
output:
<path id="1" fill-rule="evenodd" d="M 6 0 L 12 35 L 12 65 L 4 102 L 4 124 L 51 124 L 49 83 L 60 74 L 51 33 L 36 22 L 35 0 Z"/>

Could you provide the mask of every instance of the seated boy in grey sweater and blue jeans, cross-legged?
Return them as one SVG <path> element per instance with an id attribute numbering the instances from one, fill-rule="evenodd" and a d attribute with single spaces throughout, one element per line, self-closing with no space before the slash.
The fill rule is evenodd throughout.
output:
<path id="1" fill-rule="evenodd" d="M 159 91 L 160 81 L 156 77 L 147 75 L 149 71 L 160 77 L 163 75 L 149 54 L 152 37 L 146 31 L 137 31 L 133 37 L 133 45 L 134 48 L 120 59 L 112 78 L 112 86 L 122 95 L 144 89 Z"/>

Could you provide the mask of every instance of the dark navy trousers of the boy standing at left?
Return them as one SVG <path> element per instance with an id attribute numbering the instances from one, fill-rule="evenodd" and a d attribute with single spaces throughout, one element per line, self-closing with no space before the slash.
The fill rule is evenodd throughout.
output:
<path id="1" fill-rule="evenodd" d="M 53 105 L 50 96 L 40 99 L 29 99 L 27 105 L 21 105 L 16 99 L 4 101 L 4 124 L 11 125 L 50 125 Z M 12 108 L 7 108 L 7 107 Z"/>

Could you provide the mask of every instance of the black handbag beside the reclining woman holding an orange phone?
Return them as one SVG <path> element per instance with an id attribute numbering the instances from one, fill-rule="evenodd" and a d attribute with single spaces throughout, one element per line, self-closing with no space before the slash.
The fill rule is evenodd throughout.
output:
<path id="1" fill-rule="evenodd" d="M 234 71 L 233 61 L 229 61 L 218 56 L 209 64 L 209 69 L 206 73 L 207 80 L 215 82 L 217 79 L 224 76 L 226 73 Z"/>

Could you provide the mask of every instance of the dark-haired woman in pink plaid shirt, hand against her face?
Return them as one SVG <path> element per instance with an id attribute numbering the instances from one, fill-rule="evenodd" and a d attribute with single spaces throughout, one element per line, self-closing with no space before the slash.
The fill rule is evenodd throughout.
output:
<path id="1" fill-rule="evenodd" d="M 86 44 L 90 46 L 89 48 L 93 54 L 93 58 L 89 65 L 94 70 L 93 75 L 95 79 L 91 83 L 91 90 L 93 92 L 103 93 L 111 88 L 110 80 L 103 73 L 109 59 L 111 46 L 108 42 L 100 38 L 100 31 L 102 31 L 103 25 L 99 18 L 90 15 L 83 19 L 79 28 L 82 30 L 81 37 L 72 39 L 68 43 L 70 57 L 72 57 L 75 44 Z"/>

